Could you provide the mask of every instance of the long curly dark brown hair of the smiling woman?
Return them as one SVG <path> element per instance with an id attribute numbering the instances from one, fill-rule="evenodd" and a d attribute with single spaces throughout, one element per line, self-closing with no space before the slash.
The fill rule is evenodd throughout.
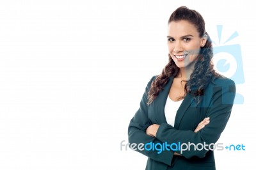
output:
<path id="1" fill-rule="evenodd" d="M 190 75 L 190 79 L 186 81 L 184 91 L 185 95 L 180 98 L 184 98 L 187 93 L 191 93 L 193 97 L 197 99 L 197 103 L 200 102 L 200 96 L 204 95 L 204 89 L 207 87 L 209 82 L 214 80 L 214 77 L 220 75 L 215 72 L 213 64 L 211 62 L 212 54 L 212 42 L 210 36 L 205 32 L 205 22 L 200 13 L 195 10 L 190 10 L 186 6 L 180 6 L 175 10 L 168 24 L 172 21 L 186 20 L 196 27 L 199 36 L 202 38 L 207 35 L 207 42 L 204 47 L 200 48 L 200 54 L 198 54 L 198 61 L 195 63 L 195 68 Z M 169 62 L 164 66 L 163 71 L 160 75 L 157 75 L 156 79 L 152 81 L 150 89 L 148 91 L 148 105 L 151 104 L 154 99 L 159 95 L 159 92 L 163 90 L 164 85 L 169 81 L 170 77 L 175 77 L 179 73 L 179 67 L 174 63 L 170 54 Z"/>

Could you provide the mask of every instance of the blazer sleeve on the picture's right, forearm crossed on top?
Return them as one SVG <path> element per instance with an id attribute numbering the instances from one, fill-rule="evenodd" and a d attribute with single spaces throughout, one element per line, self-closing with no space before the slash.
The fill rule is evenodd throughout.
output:
<path id="1" fill-rule="evenodd" d="M 205 154 L 209 151 L 207 144 L 216 143 L 227 125 L 235 95 L 236 86 L 234 81 L 227 79 L 227 81 L 221 83 L 221 86 L 215 86 L 213 89 L 212 105 L 207 109 L 206 113 L 206 117 L 210 117 L 210 123 L 202 130 L 197 133 L 193 132 L 193 130 L 177 130 L 167 123 L 162 123 L 157 130 L 156 138 L 163 143 L 168 141 L 176 144 L 179 142 L 181 144 L 193 143 L 195 146 L 199 144 L 199 150 L 195 150 L 195 147 L 191 145 L 190 150 L 175 151 L 186 158 L 193 156 L 205 157 Z M 202 144 L 206 146 L 206 149 L 202 148 Z M 180 146 L 180 150 L 181 148 Z M 183 148 L 186 148 L 186 145 Z"/>

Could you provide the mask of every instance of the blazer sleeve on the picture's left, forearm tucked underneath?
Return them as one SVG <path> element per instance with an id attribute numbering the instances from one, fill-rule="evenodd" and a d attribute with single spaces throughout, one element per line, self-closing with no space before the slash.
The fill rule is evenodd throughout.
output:
<path id="1" fill-rule="evenodd" d="M 146 134 L 148 126 L 152 125 L 151 121 L 148 119 L 147 93 L 148 90 L 150 89 L 151 82 L 153 81 L 153 79 L 154 77 L 152 77 L 150 82 L 148 82 L 147 88 L 145 89 L 145 93 L 143 94 L 143 97 L 140 102 L 140 108 L 130 121 L 128 127 L 128 138 L 130 148 L 132 144 L 136 144 L 138 146 L 138 144 L 140 143 L 144 144 L 144 146 L 147 143 L 150 143 L 154 146 L 156 146 L 156 144 L 159 143 L 159 147 L 157 146 L 157 148 L 163 146 L 163 143 L 161 143 L 161 141 L 159 141 L 156 137 L 152 137 Z M 142 153 L 143 155 L 146 155 L 149 158 L 152 158 L 153 160 L 163 162 L 168 166 L 171 165 L 173 157 L 172 150 L 161 150 L 161 153 L 159 153 L 159 150 L 145 150 L 145 148 L 143 148 L 143 150 L 136 149 L 136 151 Z"/>

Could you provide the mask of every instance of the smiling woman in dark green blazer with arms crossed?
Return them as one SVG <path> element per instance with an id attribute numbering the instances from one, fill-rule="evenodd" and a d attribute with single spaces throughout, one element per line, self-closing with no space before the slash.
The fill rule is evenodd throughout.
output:
<path id="1" fill-rule="evenodd" d="M 167 41 L 169 63 L 148 82 L 129 124 L 130 147 L 144 144 L 136 151 L 148 157 L 146 169 L 216 169 L 213 150 L 236 86 L 213 69 L 212 43 L 200 13 L 177 8 L 168 20 Z"/>

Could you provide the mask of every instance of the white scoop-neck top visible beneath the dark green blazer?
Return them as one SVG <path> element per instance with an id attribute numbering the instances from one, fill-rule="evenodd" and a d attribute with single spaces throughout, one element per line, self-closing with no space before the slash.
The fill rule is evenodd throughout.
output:
<path id="1" fill-rule="evenodd" d="M 182 101 L 183 101 L 183 99 L 179 100 L 177 102 L 174 102 L 172 99 L 170 99 L 169 95 L 167 97 L 166 104 L 164 107 L 164 114 L 165 114 L 167 123 L 169 125 L 172 125 L 173 127 L 174 127 L 176 113 L 177 113 Z"/>

